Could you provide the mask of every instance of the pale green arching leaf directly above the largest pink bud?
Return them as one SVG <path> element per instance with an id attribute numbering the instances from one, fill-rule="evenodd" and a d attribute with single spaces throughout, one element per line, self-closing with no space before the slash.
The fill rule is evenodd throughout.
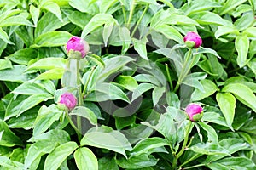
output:
<path id="1" fill-rule="evenodd" d="M 111 14 L 96 14 L 94 15 L 89 23 L 84 27 L 81 37 L 84 38 L 91 31 L 96 30 L 99 26 L 102 26 L 106 23 L 117 23 Z"/>

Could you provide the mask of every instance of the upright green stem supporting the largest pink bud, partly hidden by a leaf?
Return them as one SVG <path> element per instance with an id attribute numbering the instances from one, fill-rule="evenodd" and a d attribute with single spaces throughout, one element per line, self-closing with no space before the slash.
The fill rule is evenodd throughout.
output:
<path id="1" fill-rule="evenodd" d="M 81 92 L 81 79 L 80 79 L 80 71 L 79 71 L 79 59 L 77 59 L 77 88 L 78 88 L 78 94 L 79 94 L 79 106 L 83 105 L 83 96 Z M 81 117 L 77 116 L 77 125 L 79 130 L 79 141 L 82 139 L 81 133 L 82 133 L 82 122 Z"/>

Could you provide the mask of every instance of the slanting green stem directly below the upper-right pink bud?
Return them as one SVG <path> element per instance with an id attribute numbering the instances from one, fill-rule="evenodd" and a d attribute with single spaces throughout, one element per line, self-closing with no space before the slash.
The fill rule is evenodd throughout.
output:
<path id="1" fill-rule="evenodd" d="M 177 79 L 177 84 L 174 88 L 174 93 L 177 92 L 177 89 L 179 88 L 180 84 L 183 82 L 183 79 L 187 76 L 189 69 L 191 69 L 191 68 L 188 69 L 188 62 L 189 62 L 189 59 L 193 57 L 192 50 L 193 50 L 192 48 L 189 48 L 189 52 L 185 55 L 185 58 L 183 60 L 183 69 Z"/>

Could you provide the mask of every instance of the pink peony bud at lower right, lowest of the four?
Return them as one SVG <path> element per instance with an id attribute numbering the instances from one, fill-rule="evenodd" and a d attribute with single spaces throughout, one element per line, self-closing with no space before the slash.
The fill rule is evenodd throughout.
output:
<path id="1" fill-rule="evenodd" d="M 189 120 L 192 122 L 199 121 L 203 116 L 203 113 L 202 113 L 203 109 L 201 105 L 189 104 L 186 107 L 185 111 L 189 115 Z"/>

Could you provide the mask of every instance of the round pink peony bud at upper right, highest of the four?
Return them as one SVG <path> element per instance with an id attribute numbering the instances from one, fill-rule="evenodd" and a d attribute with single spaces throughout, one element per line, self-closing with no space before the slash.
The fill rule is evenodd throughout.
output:
<path id="1" fill-rule="evenodd" d="M 188 32 L 187 35 L 183 37 L 183 41 L 189 48 L 199 48 L 202 43 L 201 37 L 194 31 Z"/>

